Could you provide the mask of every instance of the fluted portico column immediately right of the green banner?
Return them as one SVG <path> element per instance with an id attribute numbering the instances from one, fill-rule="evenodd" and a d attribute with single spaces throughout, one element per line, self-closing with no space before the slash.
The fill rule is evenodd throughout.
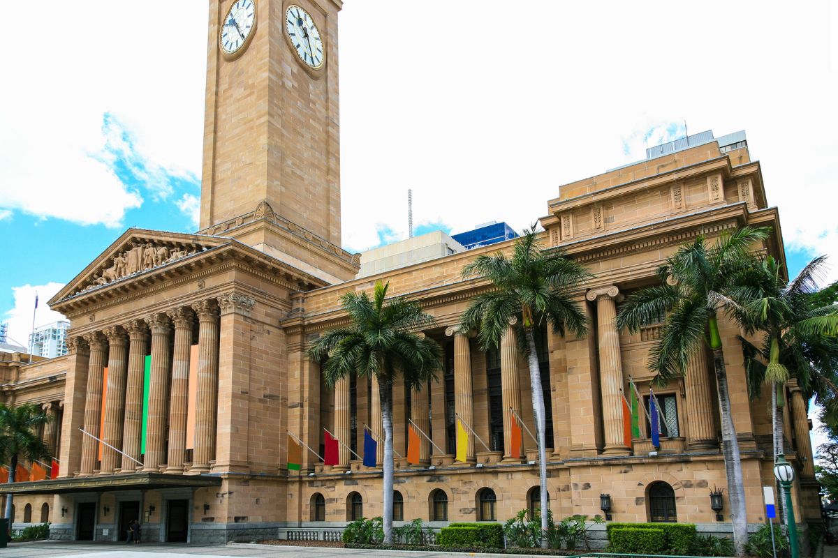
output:
<path id="1" fill-rule="evenodd" d="M 168 376 L 171 370 L 169 335 L 171 324 L 164 314 L 148 316 L 152 332 L 152 368 L 148 379 L 148 419 L 146 426 L 146 458 L 143 470 L 158 472 L 166 458 L 166 419 L 168 418 Z"/>

